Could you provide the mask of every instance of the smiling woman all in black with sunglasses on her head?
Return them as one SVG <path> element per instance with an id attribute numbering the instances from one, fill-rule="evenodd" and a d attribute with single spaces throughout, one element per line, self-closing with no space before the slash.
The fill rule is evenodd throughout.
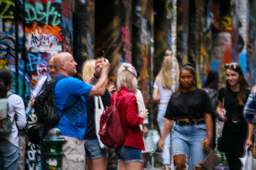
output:
<path id="1" fill-rule="evenodd" d="M 239 170 L 241 162 L 238 158 L 243 157 L 244 142 L 249 137 L 248 123 L 243 116 L 243 108 L 251 88 L 244 78 L 241 67 L 236 62 L 225 64 L 225 73 L 226 87 L 220 89 L 216 112 L 225 122 L 222 131 L 223 148 L 229 169 Z"/>

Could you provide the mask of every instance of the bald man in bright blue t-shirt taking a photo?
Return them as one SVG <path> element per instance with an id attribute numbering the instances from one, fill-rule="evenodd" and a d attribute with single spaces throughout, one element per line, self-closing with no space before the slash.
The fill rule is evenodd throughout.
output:
<path id="1" fill-rule="evenodd" d="M 61 116 L 63 110 L 72 106 L 60 119 L 58 128 L 67 140 L 63 145 L 63 160 L 61 169 L 85 169 L 84 134 L 86 132 L 87 112 L 84 96 L 102 96 L 108 85 L 110 64 L 107 59 L 97 59 L 95 74 L 88 83 L 73 78 L 77 73 L 77 63 L 70 53 L 63 52 L 55 55 L 54 67 L 57 70 L 56 78 L 65 76 L 54 87 L 54 98 Z M 96 85 L 91 85 L 97 81 Z M 74 104 L 75 103 L 75 104 Z"/>

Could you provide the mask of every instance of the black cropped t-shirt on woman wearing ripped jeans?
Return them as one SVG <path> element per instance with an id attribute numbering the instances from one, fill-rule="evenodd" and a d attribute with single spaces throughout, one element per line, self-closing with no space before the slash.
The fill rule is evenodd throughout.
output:
<path id="1" fill-rule="evenodd" d="M 204 118 L 204 113 L 212 113 L 211 100 L 207 92 L 195 89 L 192 92 L 181 92 L 177 98 L 171 97 L 165 118 Z"/>

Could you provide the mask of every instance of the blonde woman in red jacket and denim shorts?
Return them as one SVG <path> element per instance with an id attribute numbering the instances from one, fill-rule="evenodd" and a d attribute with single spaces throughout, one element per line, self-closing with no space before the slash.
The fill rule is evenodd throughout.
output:
<path id="1" fill-rule="evenodd" d="M 138 112 L 138 103 L 136 101 L 137 73 L 134 67 L 129 63 L 123 63 L 118 69 L 116 76 L 115 92 L 111 96 L 111 104 L 116 101 L 122 126 L 124 128 L 124 144 L 115 148 L 120 170 L 131 169 L 141 170 L 143 166 L 143 157 L 141 150 L 145 150 L 143 135 L 140 124 L 147 118 L 148 111 Z"/>

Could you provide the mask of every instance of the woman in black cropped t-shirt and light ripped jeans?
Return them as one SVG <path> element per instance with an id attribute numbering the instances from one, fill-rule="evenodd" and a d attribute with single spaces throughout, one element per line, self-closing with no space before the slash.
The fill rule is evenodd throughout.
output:
<path id="1" fill-rule="evenodd" d="M 211 100 L 205 90 L 196 87 L 195 69 L 190 64 L 180 68 L 179 88 L 173 93 L 165 114 L 159 149 L 172 127 L 172 156 L 177 169 L 196 168 L 207 155 L 212 142 Z"/>

